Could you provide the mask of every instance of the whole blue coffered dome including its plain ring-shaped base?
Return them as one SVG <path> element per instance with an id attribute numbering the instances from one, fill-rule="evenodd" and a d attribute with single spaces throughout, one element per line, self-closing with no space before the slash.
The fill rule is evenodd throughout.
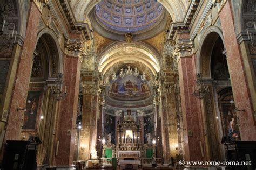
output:
<path id="1" fill-rule="evenodd" d="M 112 40 L 123 40 L 127 32 L 136 40 L 154 37 L 170 17 L 157 0 L 102 0 L 89 16 L 93 30 Z"/>

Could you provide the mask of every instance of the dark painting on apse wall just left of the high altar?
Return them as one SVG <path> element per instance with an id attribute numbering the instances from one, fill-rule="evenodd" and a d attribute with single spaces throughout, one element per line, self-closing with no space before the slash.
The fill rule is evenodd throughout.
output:
<path id="1" fill-rule="evenodd" d="M 108 134 L 111 134 L 111 141 L 115 143 L 114 137 L 116 135 L 116 118 L 114 116 L 105 115 L 105 125 L 104 125 L 104 136 L 107 137 Z"/>

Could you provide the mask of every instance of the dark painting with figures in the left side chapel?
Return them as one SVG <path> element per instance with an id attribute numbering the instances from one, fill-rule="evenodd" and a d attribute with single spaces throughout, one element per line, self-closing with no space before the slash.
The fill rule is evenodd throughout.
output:
<path id="1" fill-rule="evenodd" d="M 35 130 L 37 121 L 38 102 L 41 91 L 29 91 L 26 100 L 26 111 L 24 113 L 24 122 L 22 129 Z"/>

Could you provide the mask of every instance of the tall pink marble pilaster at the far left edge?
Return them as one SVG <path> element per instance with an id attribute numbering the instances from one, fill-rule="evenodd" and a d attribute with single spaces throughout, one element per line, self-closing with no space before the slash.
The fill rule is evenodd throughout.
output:
<path id="1" fill-rule="evenodd" d="M 21 140 L 21 130 L 24 117 L 24 111 L 17 111 L 17 108 L 26 106 L 26 97 L 28 96 L 30 74 L 33 64 L 33 52 L 36 48 L 36 38 L 41 13 L 35 3 L 31 3 L 28 23 L 26 27 L 26 36 L 22 47 L 21 55 L 17 67 L 17 73 L 14 82 L 13 94 L 10 102 L 9 118 L 6 123 L 6 140 Z"/>

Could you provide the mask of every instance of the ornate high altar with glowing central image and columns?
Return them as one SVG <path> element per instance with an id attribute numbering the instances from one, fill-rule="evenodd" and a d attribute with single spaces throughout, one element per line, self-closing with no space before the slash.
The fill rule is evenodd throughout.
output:
<path id="1" fill-rule="evenodd" d="M 112 151 L 112 157 L 116 158 L 142 158 L 156 153 L 156 140 L 149 135 L 147 143 L 142 143 L 142 125 L 140 121 L 136 122 L 136 117 L 131 115 L 131 110 L 127 110 L 127 115 L 122 112 L 122 122 L 117 123 L 116 144 L 111 142 L 111 134 L 107 136 L 107 143 L 103 144 L 103 155 L 107 157 Z M 108 153 L 107 153 L 108 152 Z"/>

